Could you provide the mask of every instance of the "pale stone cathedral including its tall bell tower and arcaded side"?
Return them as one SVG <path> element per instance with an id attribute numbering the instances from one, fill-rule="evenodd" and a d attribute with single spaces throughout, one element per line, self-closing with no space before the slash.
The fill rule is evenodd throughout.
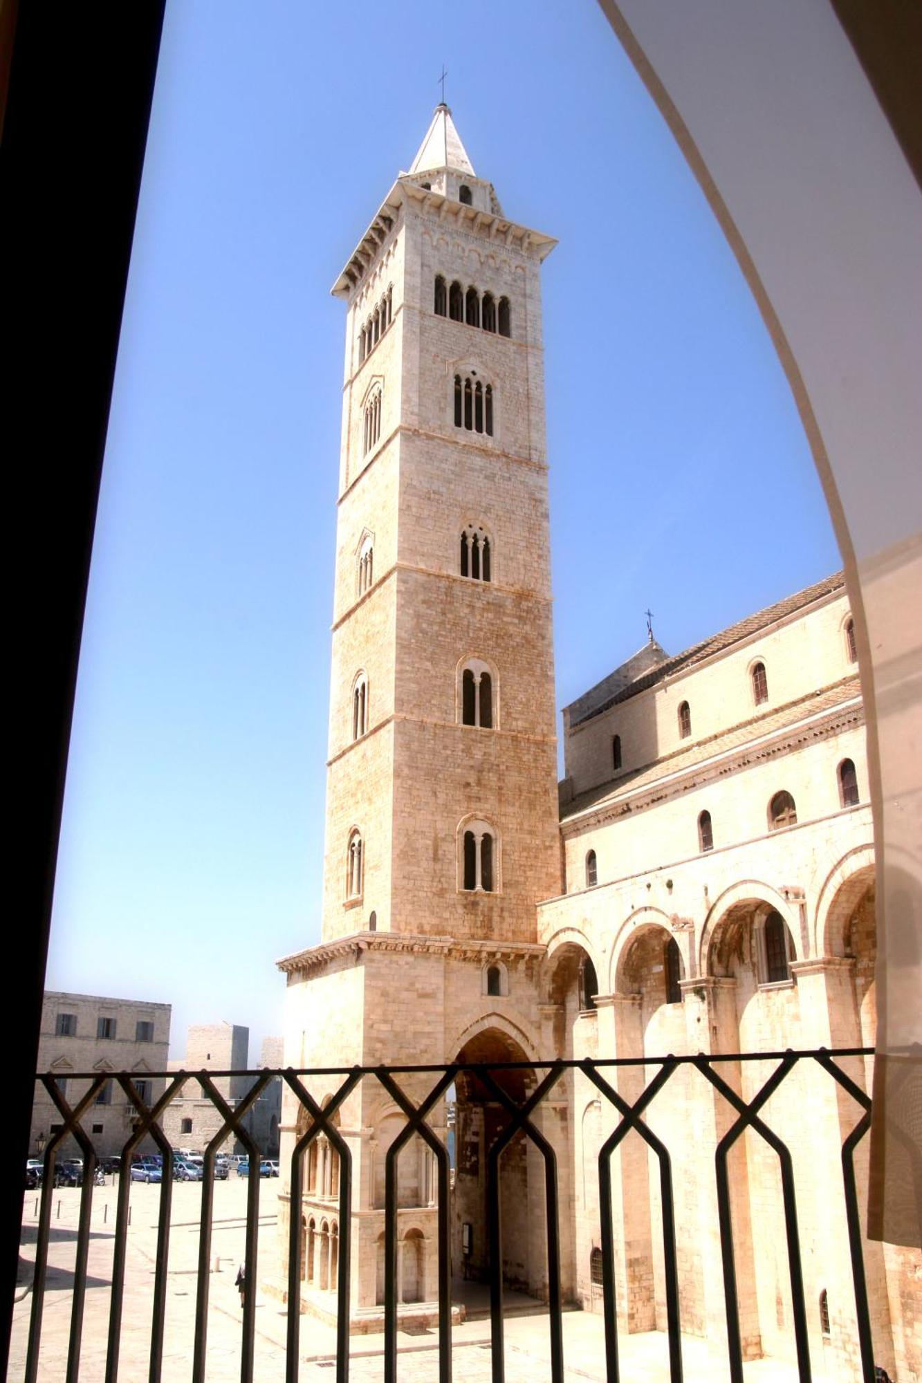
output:
<path id="1" fill-rule="evenodd" d="M 842 575 L 678 656 L 651 633 L 563 711 L 558 788 L 550 571 L 534 561 L 550 550 L 540 275 L 554 245 L 504 214 L 440 105 L 334 286 L 347 318 L 324 899 L 320 945 L 280 961 L 293 1068 L 648 1059 L 611 1077 L 633 1101 L 666 1054 L 874 1043 L 874 827 Z M 869 1064 L 850 1062 L 869 1090 Z M 777 1065 L 718 1069 L 750 1099 Z M 802 1065 L 764 1117 L 792 1141 L 811 1354 L 857 1379 L 832 1169 L 860 1111 Z M 494 1079 L 516 1102 L 536 1083 Z M 433 1080 L 399 1077 L 414 1101 Z M 310 1093 L 339 1083 L 314 1077 Z M 507 1116 L 472 1075 L 455 1097 L 453 1277 L 476 1282 Z M 437 1102 L 442 1140 L 449 1117 Z M 694 1066 L 647 1115 L 673 1156 L 683 1330 L 714 1342 L 714 1147 L 732 1119 Z M 350 1324 L 381 1329 L 385 1155 L 404 1116 L 364 1079 L 334 1120 L 352 1155 Z M 599 1310 L 598 1151 L 616 1116 L 569 1070 L 534 1122 L 557 1155 L 563 1297 Z M 282 1167 L 306 1129 L 287 1094 Z M 518 1138 L 500 1167 L 504 1281 L 547 1297 L 541 1156 Z M 731 1173 L 743 1351 L 792 1358 L 777 1156 L 748 1133 Z M 338 1174 L 320 1138 L 300 1203 L 287 1181 L 280 1192 L 285 1254 L 300 1223 L 303 1307 L 327 1318 Z M 634 1134 L 612 1182 L 620 1328 L 663 1329 L 659 1173 Z M 437 1188 L 418 1135 L 397 1202 L 400 1311 L 432 1318 Z M 908 1377 L 922 1369 L 919 1256 L 864 1252 L 878 1362 Z"/>

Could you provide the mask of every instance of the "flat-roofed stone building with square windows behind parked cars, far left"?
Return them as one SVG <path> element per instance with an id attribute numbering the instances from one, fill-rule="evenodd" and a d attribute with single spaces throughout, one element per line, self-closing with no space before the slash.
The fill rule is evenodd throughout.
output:
<path id="1" fill-rule="evenodd" d="M 42 1036 L 37 1069 L 50 1072 L 61 1095 L 73 1108 L 87 1091 L 86 1080 L 72 1072 L 127 1070 L 138 1097 L 148 1105 L 163 1093 L 170 1044 L 170 1005 L 132 999 L 104 999 L 98 994 L 62 994 L 46 990 L 42 1005 Z M 100 1158 L 120 1153 L 132 1134 L 134 1105 L 116 1082 L 107 1083 L 82 1126 Z M 32 1156 L 61 1126 L 61 1113 L 42 1084 L 36 1084 L 29 1147 Z M 145 1140 L 145 1149 L 152 1149 Z M 80 1156 L 72 1137 L 60 1147 L 61 1156 Z"/>

